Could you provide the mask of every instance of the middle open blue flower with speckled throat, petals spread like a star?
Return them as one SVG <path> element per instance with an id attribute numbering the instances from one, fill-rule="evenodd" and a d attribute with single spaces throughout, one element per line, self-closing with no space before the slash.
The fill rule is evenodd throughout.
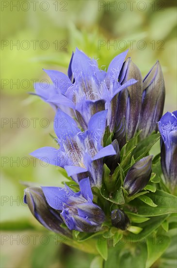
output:
<path id="1" fill-rule="evenodd" d="M 54 119 L 54 131 L 58 137 L 60 149 L 43 147 L 32 156 L 52 165 L 64 168 L 74 181 L 89 176 L 91 187 L 101 186 L 103 157 L 116 154 L 112 145 L 101 146 L 105 130 L 107 111 L 93 115 L 88 130 L 81 132 L 75 120 L 58 109 Z"/>

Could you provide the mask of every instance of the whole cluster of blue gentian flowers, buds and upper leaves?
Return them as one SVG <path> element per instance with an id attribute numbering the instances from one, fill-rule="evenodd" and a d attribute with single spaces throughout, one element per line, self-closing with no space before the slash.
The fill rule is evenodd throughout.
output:
<path id="1" fill-rule="evenodd" d="M 68 237 L 71 230 L 96 232 L 103 225 L 127 230 L 131 223 L 126 202 L 146 194 L 146 187 L 152 189 L 147 186 L 154 176 L 149 150 L 159 139 L 158 128 L 162 171 L 175 187 L 177 111 L 162 116 L 161 65 L 157 61 L 143 79 L 131 59 L 125 60 L 127 53 L 116 56 L 106 72 L 76 49 L 68 76 L 45 70 L 52 84 L 46 89 L 35 87 L 35 95 L 56 109 L 57 146 L 31 154 L 63 168 L 72 181 L 64 188 L 25 190 L 25 203 L 49 230 Z"/>

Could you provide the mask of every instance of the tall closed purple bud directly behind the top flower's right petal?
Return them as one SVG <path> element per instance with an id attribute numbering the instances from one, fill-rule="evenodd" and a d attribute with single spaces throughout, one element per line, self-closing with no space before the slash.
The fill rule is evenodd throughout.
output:
<path id="1" fill-rule="evenodd" d="M 139 68 L 128 58 L 122 67 L 119 75 L 119 82 L 126 82 L 130 78 L 138 80 L 136 84 L 132 84 L 123 89 L 118 96 L 117 122 L 125 116 L 127 126 L 127 139 L 131 139 L 138 128 L 141 105 L 143 81 Z"/>

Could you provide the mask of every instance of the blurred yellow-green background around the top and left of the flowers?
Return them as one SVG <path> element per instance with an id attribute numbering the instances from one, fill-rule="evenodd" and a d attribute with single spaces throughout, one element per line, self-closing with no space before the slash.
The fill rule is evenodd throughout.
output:
<path id="1" fill-rule="evenodd" d="M 54 166 L 29 153 L 53 146 L 54 111 L 29 95 L 44 69 L 67 73 L 76 47 L 102 69 L 129 48 L 143 77 L 160 60 L 164 113 L 177 109 L 177 10 L 174 0 L 12 0 L 1 4 L 1 268 L 87 268 L 92 255 L 56 242 L 23 204 L 23 181 L 61 186 Z"/>

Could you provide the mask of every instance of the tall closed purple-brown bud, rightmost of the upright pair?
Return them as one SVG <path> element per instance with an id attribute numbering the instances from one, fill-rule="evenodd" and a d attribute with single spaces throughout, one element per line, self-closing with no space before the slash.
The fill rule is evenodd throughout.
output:
<path id="1" fill-rule="evenodd" d="M 139 129 L 140 137 L 144 139 L 154 130 L 157 131 L 157 122 L 163 113 L 165 100 L 165 86 L 161 64 L 159 61 L 151 68 L 143 80 L 142 111 Z"/>

